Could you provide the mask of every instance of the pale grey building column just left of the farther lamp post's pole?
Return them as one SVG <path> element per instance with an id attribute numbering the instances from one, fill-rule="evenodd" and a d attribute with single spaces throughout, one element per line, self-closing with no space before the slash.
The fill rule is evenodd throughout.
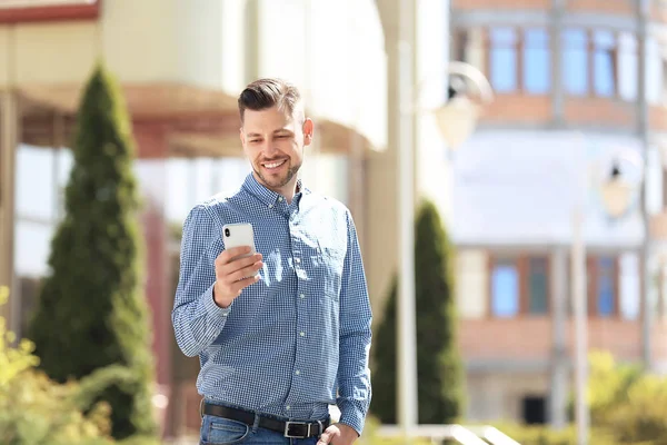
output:
<path id="1" fill-rule="evenodd" d="M 551 253 L 551 394 L 549 423 L 560 429 L 567 424 L 568 355 L 567 355 L 567 250 L 558 247 Z"/>

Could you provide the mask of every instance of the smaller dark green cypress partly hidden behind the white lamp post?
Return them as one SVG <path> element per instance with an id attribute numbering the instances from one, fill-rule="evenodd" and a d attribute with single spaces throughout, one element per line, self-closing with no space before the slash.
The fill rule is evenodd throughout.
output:
<path id="1" fill-rule="evenodd" d="M 418 411 L 420 424 L 442 424 L 462 416 L 464 369 L 457 346 L 454 256 L 436 207 L 425 201 L 415 230 Z M 374 346 L 371 412 L 382 423 L 397 422 L 396 332 L 398 279 L 394 279 Z"/>

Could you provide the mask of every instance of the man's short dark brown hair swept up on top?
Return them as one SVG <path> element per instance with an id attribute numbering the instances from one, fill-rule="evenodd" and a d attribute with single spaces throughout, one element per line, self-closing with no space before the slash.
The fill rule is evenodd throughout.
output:
<path id="1" fill-rule="evenodd" d="M 293 85 L 281 79 L 258 79 L 241 91 L 238 100 L 239 115 L 243 122 L 246 110 L 261 111 L 276 106 L 292 115 L 300 102 L 301 93 Z"/>

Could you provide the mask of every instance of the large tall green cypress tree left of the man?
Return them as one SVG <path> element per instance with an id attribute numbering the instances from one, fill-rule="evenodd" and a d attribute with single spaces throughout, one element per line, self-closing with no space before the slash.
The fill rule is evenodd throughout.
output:
<path id="1" fill-rule="evenodd" d="M 131 369 L 98 399 L 110 403 L 112 435 L 151 435 L 153 378 L 149 314 L 140 279 L 135 147 L 118 85 L 97 67 L 80 103 L 66 215 L 51 244 L 28 337 L 53 379 L 108 365 Z"/>

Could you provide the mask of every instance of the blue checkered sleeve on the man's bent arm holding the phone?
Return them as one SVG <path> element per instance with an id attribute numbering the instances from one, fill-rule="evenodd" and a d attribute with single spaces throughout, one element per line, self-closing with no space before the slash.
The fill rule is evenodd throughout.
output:
<path id="1" fill-rule="evenodd" d="M 195 207 L 183 222 L 171 323 L 178 346 L 189 357 L 199 355 L 220 335 L 231 310 L 231 306 L 220 308 L 213 301 L 216 270 L 211 246 L 219 239 L 216 233 L 217 225 L 203 206 Z"/>

